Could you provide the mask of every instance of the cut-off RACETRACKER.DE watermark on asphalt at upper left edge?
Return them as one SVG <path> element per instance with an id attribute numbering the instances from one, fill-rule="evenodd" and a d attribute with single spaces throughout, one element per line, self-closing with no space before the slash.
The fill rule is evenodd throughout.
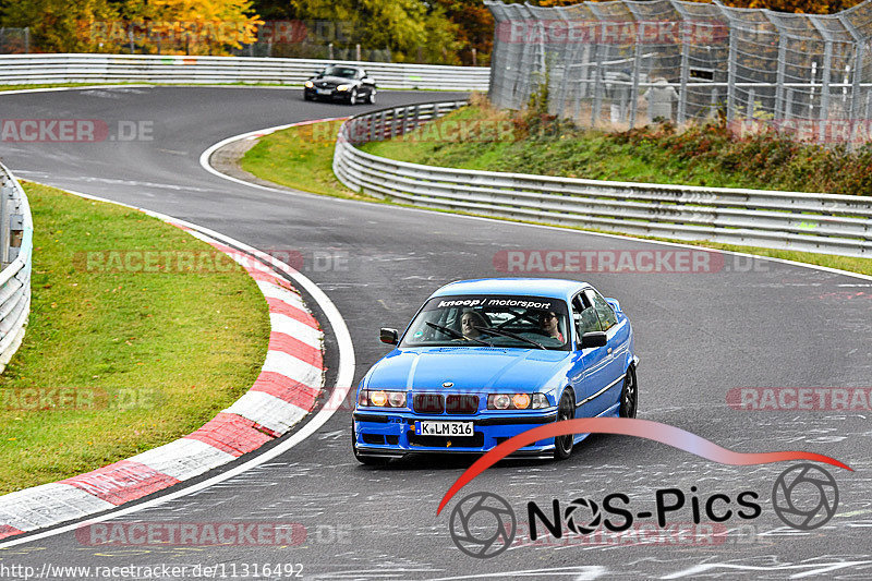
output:
<path id="1" fill-rule="evenodd" d="M 152 142 L 155 122 L 105 119 L 2 119 L 0 142 L 101 143 Z"/>

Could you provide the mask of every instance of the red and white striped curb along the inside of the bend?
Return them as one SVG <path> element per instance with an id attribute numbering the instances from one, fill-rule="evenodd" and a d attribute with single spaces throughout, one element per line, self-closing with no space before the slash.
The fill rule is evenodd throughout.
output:
<path id="1" fill-rule="evenodd" d="M 252 254 L 166 221 L 226 253 L 257 282 L 271 325 L 261 375 L 249 392 L 192 434 L 85 474 L 0 496 L 0 538 L 81 519 L 198 476 L 280 437 L 314 409 L 324 387 L 324 334 L 300 294 Z"/>

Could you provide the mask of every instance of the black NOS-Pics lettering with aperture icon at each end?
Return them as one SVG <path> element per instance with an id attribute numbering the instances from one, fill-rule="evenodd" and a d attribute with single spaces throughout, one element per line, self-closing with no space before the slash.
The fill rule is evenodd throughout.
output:
<path id="1" fill-rule="evenodd" d="M 695 492 L 695 486 L 692 489 Z M 627 506 L 618 506 L 614 498 L 609 501 L 611 497 L 627 498 Z M 686 501 L 688 497 L 689 503 Z M 665 526 L 667 517 L 680 510 L 691 510 L 691 518 L 698 524 L 703 516 L 715 522 L 723 522 L 734 516 L 754 519 L 762 513 L 754 501 L 758 497 L 752 491 L 742 492 L 737 495 L 737 506 L 731 507 L 727 495 L 714 494 L 699 499 L 693 495 L 685 495 L 677 488 L 669 488 L 658 492 L 654 511 L 639 512 L 629 510 L 629 497 L 622 494 L 608 495 L 604 503 L 577 498 L 562 510 L 558 510 L 559 501 L 555 499 L 550 520 L 545 511 L 531 501 L 528 503 L 531 521 L 529 526 L 531 534 L 535 535 L 534 521 L 541 519 L 545 523 L 544 528 L 559 538 L 564 534 L 564 528 L 574 534 L 591 534 L 601 526 L 613 532 L 625 531 L 632 525 L 635 518 L 656 517 L 657 524 Z M 833 475 L 823 468 L 811 463 L 797 464 L 775 479 L 772 506 L 788 526 L 810 531 L 824 525 L 835 515 L 838 487 Z M 518 530 L 518 519 L 506 499 L 493 493 L 479 492 L 465 496 L 455 506 L 449 526 L 451 538 L 461 552 L 471 557 L 486 559 L 511 546 Z"/>

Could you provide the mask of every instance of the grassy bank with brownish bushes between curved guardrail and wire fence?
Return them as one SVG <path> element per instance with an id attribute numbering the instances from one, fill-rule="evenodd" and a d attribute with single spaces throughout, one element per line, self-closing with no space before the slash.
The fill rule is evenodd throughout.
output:
<path id="1" fill-rule="evenodd" d="M 685 132 L 653 125 L 609 133 L 547 116 L 495 110 L 481 98 L 473 102 L 402 138 L 368 143 L 362 149 L 401 161 L 461 169 L 872 195 L 872 145 L 848 152 L 796 143 L 771 132 L 736 136 L 717 123 L 693 125 Z M 476 123 L 504 131 L 461 140 L 446 138 L 450 133 L 437 129 L 469 129 Z"/>

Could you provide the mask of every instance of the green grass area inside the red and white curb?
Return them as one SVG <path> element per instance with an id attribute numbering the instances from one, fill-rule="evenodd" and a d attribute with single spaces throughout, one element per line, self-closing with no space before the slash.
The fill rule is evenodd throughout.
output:
<path id="1" fill-rule="evenodd" d="M 0 376 L 0 493 L 196 429 L 252 386 L 269 337 L 266 302 L 237 265 L 193 273 L 87 266 L 88 252 L 208 257 L 211 246 L 136 210 L 25 189 L 35 223 L 33 302 L 24 342 Z M 52 399 L 53 389 L 80 399 Z"/>

